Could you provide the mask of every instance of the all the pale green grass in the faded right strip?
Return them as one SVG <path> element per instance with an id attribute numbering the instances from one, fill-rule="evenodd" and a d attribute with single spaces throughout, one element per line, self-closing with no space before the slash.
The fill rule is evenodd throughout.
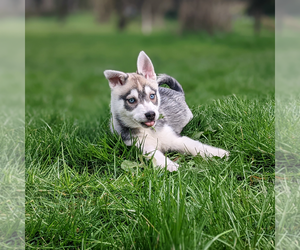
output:
<path id="1" fill-rule="evenodd" d="M 276 249 L 300 249 L 299 34 L 276 36 Z"/>

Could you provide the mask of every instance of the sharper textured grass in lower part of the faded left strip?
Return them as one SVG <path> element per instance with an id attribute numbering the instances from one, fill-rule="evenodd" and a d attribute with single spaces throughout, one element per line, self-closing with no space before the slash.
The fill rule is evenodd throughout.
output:
<path id="1" fill-rule="evenodd" d="M 24 248 L 24 120 L 20 110 L 0 110 L 0 248 Z M 21 114 L 20 114 L 21 113 Z M 17 114 L 17 115 L 16 115 Z M 23 114 L 24 115 L 24 114 Z"/>

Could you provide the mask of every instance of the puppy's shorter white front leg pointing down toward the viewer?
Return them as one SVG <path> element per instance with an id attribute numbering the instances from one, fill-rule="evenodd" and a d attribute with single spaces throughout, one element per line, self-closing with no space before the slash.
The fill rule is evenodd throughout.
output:
<path id="1" fill-rule="evenodd" d="M 153 158 L 156 160 L 156 165 L 160 166 L 161 168 L 165 167 L 167 165 L 167 169 L 170 172 L 177 171 L 179 165 L 173 161 L 171 161 L 168 157 L 166 157 L 161 151 L 150 147 L 150 146 L 144 146 L 143 153 L 148 154 L 150 156 L 153 156 Z"/>

